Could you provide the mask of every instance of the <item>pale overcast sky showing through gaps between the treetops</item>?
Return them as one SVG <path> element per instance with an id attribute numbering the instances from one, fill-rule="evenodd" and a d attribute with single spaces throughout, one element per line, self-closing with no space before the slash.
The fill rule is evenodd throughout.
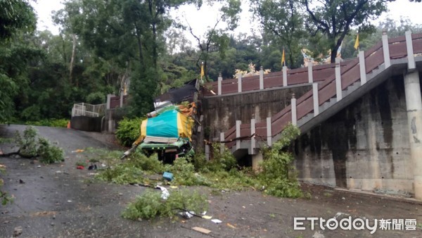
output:
<path id="1" fill-rule="evenodd" d="M 37 4 L 32 2 L 35 11 L 38 15 L 38 30 L 50 30 L 53 34 L 58 34 L 58 26 L 53 25 L 51 21 L 51 11 L 58 11 L 63 7 L 60 4 L 61 0 L 38 0 Z M 248 12 L 247 0 L 243 0 L 243 12 L 241 13 L 241 23 L 235 33 L 250 32 L 251 27 L 256 28 L 257 25 L 250 23 L 250 13 Z M 393 19 L 399 20 L 401 16 L 408 17 L 414 24 L 422 24 L 422 3 L 413 3 L 409 0 L 397 0 L 388 3 L 389 13 L 384 13 L 380 20 L 385 19 L 390 15 Z M 210 11 L 211 10 L 211 11 Z M 184 21 L 184 16 L 191 24 L 194 32 L 201 35 L 207 27 L 215 24 L 217 19 L 217 12 L 212 11 L 210 8 L 202 8 L 197 11 L 194 6 L 183 6 L 179 11 L 172 15 L 179 15 L 181 20 Z M 188 34 L 188 33 L 186 33 Z"/>

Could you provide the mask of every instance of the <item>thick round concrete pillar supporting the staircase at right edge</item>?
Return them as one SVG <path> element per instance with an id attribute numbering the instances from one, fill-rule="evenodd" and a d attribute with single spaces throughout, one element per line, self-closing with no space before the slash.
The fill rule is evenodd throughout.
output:
<path id="1" fill-rule="evenodd" d="M 418 71 L 404 75 L 415 199 L 422 200 L 422 99 Z"/>

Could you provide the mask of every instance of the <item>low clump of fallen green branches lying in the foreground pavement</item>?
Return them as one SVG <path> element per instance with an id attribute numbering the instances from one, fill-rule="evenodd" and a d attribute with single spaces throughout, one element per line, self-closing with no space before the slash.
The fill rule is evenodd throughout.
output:
<path id="1" fill-rule="evenodd" d="M 207 198 L 198 192 L 188 190 L 171 191 L 166 200 L 161 198 L 160 192 L 148 190 L 136 201 L 130 203 L 123 211 L 123 218 L 151 220 L 156 216 L 173 218 L 180 211 L 193 211 L 200 214 L 207 211 Z"/>

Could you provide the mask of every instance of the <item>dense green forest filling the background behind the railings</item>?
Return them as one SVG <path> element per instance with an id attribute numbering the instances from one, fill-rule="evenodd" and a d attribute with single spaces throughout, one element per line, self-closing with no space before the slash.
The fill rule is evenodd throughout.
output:
<path id="1" fill-rule="evenodd" d="M 249 63 L 279 71 L 283 49 L 288 68 L 302 66 L 301 49 L 333 61 L 341 46 L 343 58 L 354 57 L 357 31 L 360 50 L 380 41 L 383 31 L 389 37 L 422 31 L 407 18 L 372 25 L 387 11 L 386 1 L 318 2 L 249 0 L 260 34 L 231 35 L 240 0 L 68 0 L 52 15 L 60 26 L 52 35 L 36 30 L 29 1 L 0 1 L 0 122 L 69 118 L 73 104 L 105 103 L 127 78 L 127 113 L 143 115 L 155 96 L 199 77 L 201 62 L 212 81 L 219 73 L 226 79 L 248 70 Z M 217 4 L 219 18 L 204 35 L 194 35 L 189 23 L 170 15 L 184 4 Z M 193 44 L 186 44 L 186 34 Z"/>

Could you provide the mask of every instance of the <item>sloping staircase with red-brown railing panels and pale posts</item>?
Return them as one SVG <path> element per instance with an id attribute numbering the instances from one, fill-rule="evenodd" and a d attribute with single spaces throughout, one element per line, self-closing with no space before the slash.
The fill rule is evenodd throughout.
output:
<path id="1" fill-rule="evenodd" d="M 260 134 L 260 136 L 267 137 L 267 140 L 271 139 L 269 141 L 269 145 L 271 145 L 271 142 L 275 142 L 281 137 L 279 126 L 281 125 L 282 129 L 289 122 L 298 125 L 302 133 L 308 132 L 392 75 L 402 75 L 405 70 L 416 70 L 416 66 L 422 68 L 422 56 L 418 56 L 420 54 L 422 54 L 422 34 L 411 35 L 410 32 L 407 32 L 406 37 L 395 39 L 383 36 L 382 44 L 377 44 L 368 51 L 359 52 L 359 61 L 355 58 L 343 63 L 341 67 L 340 63 L 337 63 L 335 77 L 330 75 L 327 80 L 315 85 L 317 91 L 314 92 L 317 94 L 314 95 L 311 90 L 300 99 L 292 99 L 292 104 L 284 108 L 281 114 L 277 115 L 278 117 L 273 116 L 271 120 L 267 119 L 267 135 Z M 340 68 L 343 71 L 341 73 Z M 339 100 L 338 94 L 340 94 Z M 298 101 L 298 105 L 296 105 L 296 101 Z M 312 104 L 313 108 L 310 106 Z M 316 109 L 318 109 L 317 113 L 315 113 Z M 299 111 L 302 116 L 296 118 Z M 303 114 L 304 112 L 305 114 Z M 295 113 L 296 115 L 294 115 Z M 290 120 L 286 120 L 285 115 L 288 115 Z M 255 121 L 250 125 L 238 126 L 236 129 L 241 132 L 236 132 L 231 128 L 228 131 L 230 133 L 224 134 L 226 141 L 234 142 L 227 144 L 229 149 L 235 155 L 244 155 L 245 151 L 248 151 L 248 154 L 255 154 L 260 145 L 250 142 L 254 140 L 254 137 L 238 139 L 240 134 L 254 134 L 252 132 L 255 132 Z M 269 132 L 271 134 L 268 134 Z M 236 143 L 238 140 L 240 143 Z M 243 153 L 239 153 L 239 150 L 243 150 Z"/>

